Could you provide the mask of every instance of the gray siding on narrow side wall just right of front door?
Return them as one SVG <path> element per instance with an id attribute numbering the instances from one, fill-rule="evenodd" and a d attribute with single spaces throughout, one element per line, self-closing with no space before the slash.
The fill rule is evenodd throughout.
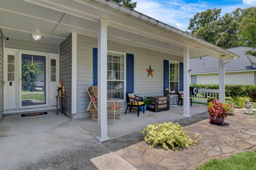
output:
<path id="1" fill-rule="evenodd" d="M 60 44 L 60 79 L 63 80 L 67 98 L 67 111 L 71 116 L 71 75 L 72 75 L 72 38 L 71 35 Z"/>

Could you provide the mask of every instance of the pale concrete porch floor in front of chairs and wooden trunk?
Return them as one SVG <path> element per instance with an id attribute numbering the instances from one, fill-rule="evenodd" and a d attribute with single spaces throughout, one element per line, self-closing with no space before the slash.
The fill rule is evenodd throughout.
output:
<path id="1" fill-rule="evenodd" d="M 190 107 L 190 115 L 196 115 L 203 112 L 206 112 L 206 105 L 193 104 L 193 106 Z M 146 111 L 145 114 L 143 114 L 140 112 L 139 117 L 137 117 L 137 112 L 132 111 L 132 113 L 130 113 L 127 111 L 126 115 L 123 113 L 121 120 L 117 119 L 115 124 L 108 124 L 108 137 L 110 139 L 115 139 L 126 134 L 138 132 L 151 123 L 177 121 L 185 118 L 182 114 L 183 106 L 178 106 L 178 108 L 171 107 L 169 111 L 157 113 Z M 94 137 L 98 135 L 98 123 L 92 122 L 90 118 L 83 118 L 75 121 Z"/>

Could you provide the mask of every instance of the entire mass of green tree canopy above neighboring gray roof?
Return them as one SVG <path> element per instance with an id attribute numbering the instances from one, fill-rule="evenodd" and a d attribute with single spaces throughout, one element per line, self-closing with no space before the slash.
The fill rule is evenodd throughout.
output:
<path id="1" fill-rule="evenodd" d="M 197 13 L 190 19 L 188 32 L 223 48 L 245 46 L 256 49 L 256 7 L 237 8 L 223 16 L 220 13 L 221 9 L 216 8 Z M 246 54 L 256 56 L 256 51 L 250 50 Z"/>

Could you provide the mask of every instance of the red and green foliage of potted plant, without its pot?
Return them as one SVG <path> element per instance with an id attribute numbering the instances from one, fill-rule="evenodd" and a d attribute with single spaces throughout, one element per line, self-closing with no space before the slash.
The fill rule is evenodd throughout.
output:
<path id="1" fill-rule="evenodd" d="M 207 110 L 211 116 L 215 116 L 218 118 L 228 116 L 227 107 L 225 107 L 221 102 L 219 102 L 216 99 L 214 99 L 208 104 Z"/>

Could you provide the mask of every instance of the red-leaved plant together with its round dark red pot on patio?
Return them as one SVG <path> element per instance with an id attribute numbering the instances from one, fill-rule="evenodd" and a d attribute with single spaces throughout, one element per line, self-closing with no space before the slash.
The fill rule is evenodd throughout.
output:
<path id="1" fill-rule="evenodd" d="M 213 124 L 221 124 L 228 116 L 228 109 L 218 100 L 214 99 L 207 106 L 209 118 Z"/>

